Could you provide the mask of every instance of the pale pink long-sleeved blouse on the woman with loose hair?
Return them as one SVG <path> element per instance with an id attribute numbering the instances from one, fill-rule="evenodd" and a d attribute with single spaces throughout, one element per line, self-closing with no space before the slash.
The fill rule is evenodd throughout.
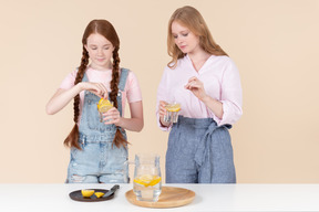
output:
<path id="1" fill-rule="evenodd" d="M 203 82 L 205 92 L 223 103 L 224 115 L 219 119 L 206 107 L 191 91 L 184 88 L 188 80 L 196 76 Z M 243 94 L 239 72 L 228 56 L 212 55 L 198 72 L 193 66 L 188 55 L 177 61 L 177 66 L 172 70 L 165 67 L 157 89 L 157 125 L 162 130 L 158 116 L 158 103 L 177 102 L 181 104 L 179 115 L 189 118 L 213 118 L 218 126 L 236 123 L 243 115 Z"/>

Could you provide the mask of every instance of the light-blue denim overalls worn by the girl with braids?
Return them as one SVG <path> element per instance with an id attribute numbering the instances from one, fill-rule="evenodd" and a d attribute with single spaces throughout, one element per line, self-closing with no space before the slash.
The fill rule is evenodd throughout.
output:
<path id="1" fill-rule="evenodd" d="M 122 68 L 119 83 L 117 110 L 122 116 L 122 93 L 128 70 Z M 84 74 L 82 82 L 88 82 Z M 82 150 L 71 148 L 68 169 L 69 183 L 125 183 L 128 181 L 127 147 L 117 148 L 112 142 L 116 132 L 115 125 L 100 123 L 97 103 L 100 97 L 85 91 L 82 116 L 79 127 L 79 142 Z M 126 132 L 120 128 L 126 138 Z"/>

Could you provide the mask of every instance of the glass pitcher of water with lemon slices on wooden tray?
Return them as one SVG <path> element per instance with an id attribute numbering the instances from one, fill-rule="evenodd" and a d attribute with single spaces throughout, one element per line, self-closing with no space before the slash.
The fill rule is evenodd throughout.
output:
<path id="1" fill-rule="evenodd" d="M 162 192 L 158 155 L 135 155 L 133 191 L 140 201 L 157 202 Z"/>

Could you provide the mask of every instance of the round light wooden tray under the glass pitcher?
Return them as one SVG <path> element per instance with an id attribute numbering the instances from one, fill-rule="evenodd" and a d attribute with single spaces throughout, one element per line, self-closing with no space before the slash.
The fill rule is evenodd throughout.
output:
<path id="1" fill-rule="evenodd" d="M 195 192 L 183 188 L 162 187 L 162 193 L 157 202 L 138 201 L 133 190 L 127 191 L 125 197 L 128 202 L 138 206 L 164 209 L 191 203 L 195 198 Z"/>

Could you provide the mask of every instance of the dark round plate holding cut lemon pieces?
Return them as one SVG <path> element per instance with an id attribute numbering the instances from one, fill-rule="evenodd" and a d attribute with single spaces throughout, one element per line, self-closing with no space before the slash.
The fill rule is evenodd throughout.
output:
<path id="1" fill-rule="evenodd" d="M 82 189 L 71 192 L 69 197 L 80 202 L 99 202 L 114 198 L 114 193 L 109 197 L 103 197 L 107 191 L 109 190 L 105 189 Z"/>

